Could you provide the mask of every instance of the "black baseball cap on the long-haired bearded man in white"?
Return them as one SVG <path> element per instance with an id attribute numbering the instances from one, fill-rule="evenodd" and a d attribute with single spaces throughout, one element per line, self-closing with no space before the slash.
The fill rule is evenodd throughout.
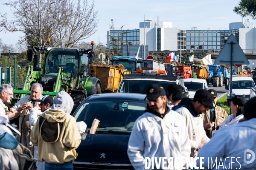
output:
<path id="1" fill-rule="evenodd" d="M 166 92 L 165 92 L 163 86 L 155 84 L 155 85 L 151 85 L 148 87 L 147 96 L 145 97 L 145 99 L 149 98 L 149 99 L 156 100 L 156 99 L 158 99 L 159 96 L 165 96 L 165 95 L 166 95 Z"/>

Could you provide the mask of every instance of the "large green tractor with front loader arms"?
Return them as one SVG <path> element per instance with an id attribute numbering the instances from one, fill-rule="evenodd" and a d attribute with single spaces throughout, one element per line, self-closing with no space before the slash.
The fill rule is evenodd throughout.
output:
<path id="1" fill-rule="evenodd" d="M 73 112 L 87 96 L 101 94 L 100 80 L 89 73 L 89 65 L 95 57 L 94 43 L 91 45 L 92 49 L 29 46 L 27 59 L 32 61 L 34 51 L 34 64 L 28 66 L 22 90 L 13 91 L 16 95 L 12 104 L 29 95 L 35 82 L 43 85 L 43 95 L 56 96 L 60 91 L 69 93 L 74 101 Z M 38 52 L 45 54 L 42 69 L 38 67 Z"/>

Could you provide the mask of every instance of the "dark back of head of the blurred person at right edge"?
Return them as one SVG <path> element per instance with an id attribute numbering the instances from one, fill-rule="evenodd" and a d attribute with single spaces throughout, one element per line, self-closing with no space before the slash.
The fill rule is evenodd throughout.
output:
<path id="1" fill-rule="evenodd" d="M 250 100 L 248 100 L 246 103 L 244 103 L 242 113 L 245 119 L 249 120 L 249 119 L 256 118 L 255 105 L 256 105 L 256 97 L 253 97 Z"/>

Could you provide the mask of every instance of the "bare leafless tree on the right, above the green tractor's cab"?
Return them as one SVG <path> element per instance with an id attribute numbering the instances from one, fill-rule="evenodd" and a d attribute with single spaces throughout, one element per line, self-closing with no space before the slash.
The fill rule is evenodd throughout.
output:
<path id="1" fill-rule="evenodd" d="M 98 11 L 94 11 L 94 0 L 88 4 L 88 0 L 67 0 L 62 8 L 64 20 L 56 18 L 58 23 L 54 40 L 59 47 L 73 47 L 77 42 L 87 39 L 97 30 Z"/>

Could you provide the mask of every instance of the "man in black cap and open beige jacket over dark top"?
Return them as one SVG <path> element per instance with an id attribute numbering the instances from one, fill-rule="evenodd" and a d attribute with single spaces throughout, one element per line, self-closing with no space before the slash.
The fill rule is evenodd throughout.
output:
<path id="1" fill-rule="evenodd" d="M 206 132 L 206 135 L 211 138 L 212 137 L 212 130 L 218 130 L 221 123 L 227 119 L 228 114 L 227 112 L 216 105 L 217 103 L 217 91 L 213 89 L 208 90 L 212 96 L 212 99 L 215 103 L 214 108 L 210 108 L 209 111 L 206 111 L 202 114 L 204 119 L 204 130 Z"/>

